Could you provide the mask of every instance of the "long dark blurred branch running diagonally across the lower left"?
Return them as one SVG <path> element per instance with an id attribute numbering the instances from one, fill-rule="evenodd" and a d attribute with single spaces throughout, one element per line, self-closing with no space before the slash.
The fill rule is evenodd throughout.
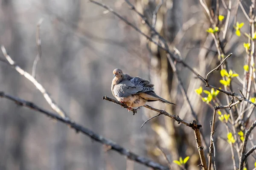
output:
<path id="1" fill-rule="evenodd" d="M 111 140 L 106 139 L 106 138 L 98 135 L 97 133 L 94 133 L 92 130 L 87 129 L 86 127 L 83 127 L 83 126 L 77 124 L 73 120 L 67 119 L 67 118 L 64 118 L 62 116 L 56 115 L 55 113 L 46 111 L 43 108 L 35 105 L 32 102 L 26 101 L 24 99 L 20 99 L 18 97 L 11 96 L 9 94 L 5 94 L 2 91 L 0 91 L 0 97 L 12 100 L 13 102 L 16 102 L 20 106 L 38 111 L 40 113 L 43 113 L 46 116 L 51 117 L 52 119 L 56 119 L 60 122 L 63 122 L 64 124 L 68 125 L 70 128 L 75 129 L 77 133 L 81 132 L 84 135 L 89 136 L 94 141 L 109 146 L 109 149 L 115 150 L 116 152 L 120 153 L 121 155 L 126 156 L 130 160 L 136 161 L 140 164 L 144 164 L 145 166 L 151 167 L 151 168 L 156 169 L 156 170 L 168 170 L 169 169 L 168 167 L 165 167 L 161 164 L 158 164 L 157 162 L 151 161 L 148 158 L 138 156 L 137 154 L 129 151 L 128 149 L 125 149 L 124 147 L 116 144 L 115 142 L 112 142 Z"/>

